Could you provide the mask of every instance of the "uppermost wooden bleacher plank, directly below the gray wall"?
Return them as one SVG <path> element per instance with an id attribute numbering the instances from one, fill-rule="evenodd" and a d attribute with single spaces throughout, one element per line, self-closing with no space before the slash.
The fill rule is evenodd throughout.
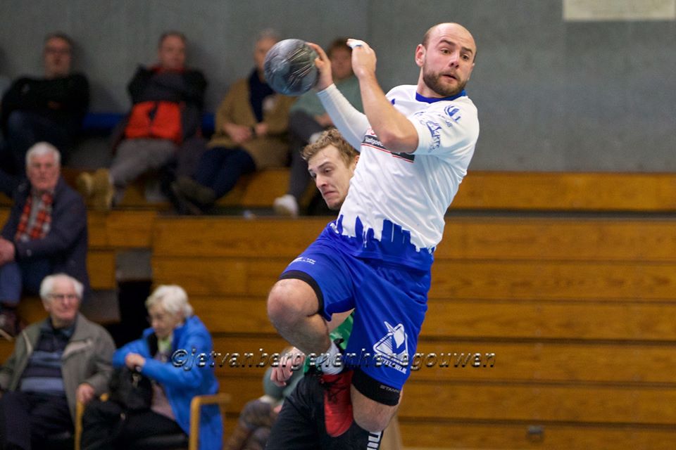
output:
<path id="1" fill-rule="evenodd" d="M 63 169 L 71 184 L 79 173 Z M 244 176 L 218 205 L 270 208 L 286 192 L 288 181 L 286 168 Z M 0 194 L 0 205 L 10 204 Z M 147 202 L 144 184 L 136 183 L 127 188 L 120 207 L 162 210 L 169 205 Z M 451 210 L 676 212 L 676 174 L 470 171 Z"/>

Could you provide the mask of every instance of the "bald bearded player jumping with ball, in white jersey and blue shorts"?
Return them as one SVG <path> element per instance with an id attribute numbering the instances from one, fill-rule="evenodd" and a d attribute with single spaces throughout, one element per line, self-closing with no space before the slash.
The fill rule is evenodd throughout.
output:
<path id="1" fill-rule="evenodd" d="M 464 86 L 476 56 L 472 35 L 442 23 L 425 33 L 415 49 L 417 85 L 384 94 L 375 77 L 375 52 L 353 46 L 365 114 L 358 113 L 332 85 L 330 61 L 320 58 L 316 89 L 342 135 L 361 148 L 347 198 L 336 221 L 287 266 L 268 297 L 271 321 L 306 354 L 323 354 L 326 376 L 341 373 L 351 384 L 351 415 L 365 430 L 385 428 L 399 404 L 427 310 L 430 267 L 442 238 L 444 213 L 474 153 L 479 134 L 475 105 Z M 355 308 L 345 351 L 350 370 L 333 364 L 327 320 Z M 339 383 L 336 383 L 339 388 Z M 336 421 L 331 435 L 349 428 Z"/>

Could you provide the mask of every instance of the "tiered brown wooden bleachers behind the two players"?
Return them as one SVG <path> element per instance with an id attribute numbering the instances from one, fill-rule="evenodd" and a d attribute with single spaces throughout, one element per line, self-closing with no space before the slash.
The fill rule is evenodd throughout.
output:
<path id="1" fill-rule="evenodd" d="M 269 207 L 284 176 L 253 176 L 227 201 Z M 327 219 L 143 208 L 90 213 L 92 255 L 151 248 L 154 283 L 186 288 L 215 351 L 282 349 L 265 298 Z M 399 412 L 406 448 L 674 448 L 675 213 L 669 174 L 470 173 L 435 254 L 418 351 L 494 366 L 453 356 L 415 371 Z M 89 261 L 101 284 L 102 261 Z M 216 371 L 231 428 L 264 369 Z"/>

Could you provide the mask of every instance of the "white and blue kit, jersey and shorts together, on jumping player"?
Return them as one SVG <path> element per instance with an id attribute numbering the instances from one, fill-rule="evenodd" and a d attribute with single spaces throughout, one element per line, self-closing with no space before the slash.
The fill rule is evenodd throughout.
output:
<path id="1" fill-rule="evenodd" d="M 404 154 L 387 150 L 366 116 L 334 86 L 318 96 L 361 155 L 338 219 L 281 278 L 308 282 L 326 319 L 355 309 L 346 348 L 346 356 L 352 356 L 346 362 L 356 370 L 353 385 L 376 401 L 396 404 L 398 396 L 371 396 L 356 380 L 365 374 L 384 390 L 400 390 L 410 375 L 444 214 L 479 135 L 477 108 L 464 91 L 452 98 L 425 98 L 415 86 L 392 89 L 387 98 L 418 130 L 418 148 Z"/>

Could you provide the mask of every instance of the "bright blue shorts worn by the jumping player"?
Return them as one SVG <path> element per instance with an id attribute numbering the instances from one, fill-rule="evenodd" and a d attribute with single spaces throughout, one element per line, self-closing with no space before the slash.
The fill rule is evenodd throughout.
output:
<path id="1" fill-rule="evenodd" d="M 280 278 L 310 284 L 319 299 L 318 312 L 327 320 L 354 308 L 346 366 L 355 368 L 355 379 L 361 371 L 386 389 L 399 391 L 411 374 L 410 360 L 427 311 L 430 271 L 355 257 L 340 239 L 323 233 Z"/>

